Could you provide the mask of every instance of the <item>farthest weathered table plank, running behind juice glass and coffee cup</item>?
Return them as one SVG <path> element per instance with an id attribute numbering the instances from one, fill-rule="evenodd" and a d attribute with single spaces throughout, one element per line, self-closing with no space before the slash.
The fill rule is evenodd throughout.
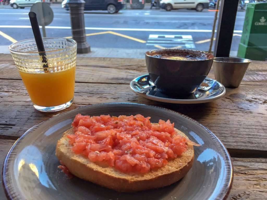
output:
<path id="1" fill-rule="evenodd" d="M 21 79 L 15 63 L 9 54 L 0 54 L 0 79 Z M 144 59 L 134 58 L 86 58 L 78 57 L 76 64 L 76 82 L 125 83 L 146 74 Z M 213 70 L 209 77 L 214 78 Z M 253 61 L 244 77 L 250 85 L 266 83 L 267 62 Z"/>

